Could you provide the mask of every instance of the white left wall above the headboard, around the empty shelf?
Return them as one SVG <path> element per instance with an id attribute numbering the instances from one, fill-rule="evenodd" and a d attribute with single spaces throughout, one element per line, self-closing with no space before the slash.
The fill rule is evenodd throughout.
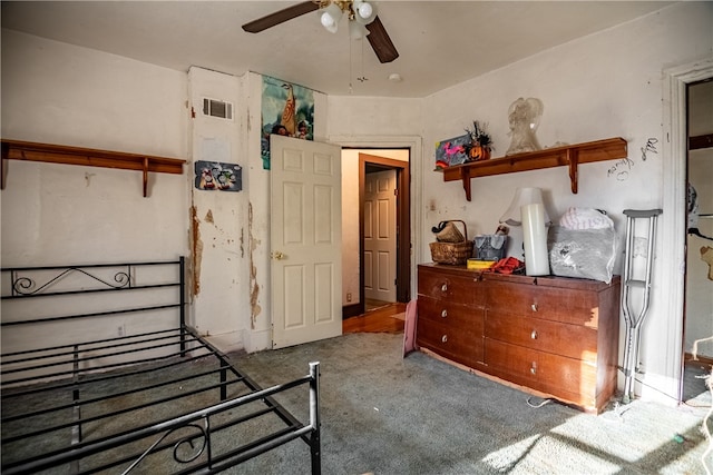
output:
<path id="1" fill-rule="evenodd" d="M 185 159 L 186 76 L 2 30 L 2 138 Z M 2 265 L 173 259 L 185 178 L 9 160 Z"/>

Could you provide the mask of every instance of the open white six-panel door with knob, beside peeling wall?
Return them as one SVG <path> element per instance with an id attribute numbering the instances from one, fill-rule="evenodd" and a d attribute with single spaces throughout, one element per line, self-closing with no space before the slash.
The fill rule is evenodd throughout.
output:
<path id="1" fill-rule="evenodd" d="M 342 334 L 341 148 L 271 136 L 273 348 Z"/>

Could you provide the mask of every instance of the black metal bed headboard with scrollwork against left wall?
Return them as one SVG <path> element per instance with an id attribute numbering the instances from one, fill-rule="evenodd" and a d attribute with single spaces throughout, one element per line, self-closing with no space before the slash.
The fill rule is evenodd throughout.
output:
<path id="1" fill-rule="evenodd" d="M 8 355 L 17 359 L 23 353 L 59 346 L 81 346 L 96 357 L 107 340 L 120 339 L 128 347 L 137 336 L 155 339 L 160 348 L 167 333 L 180 333 L 185 350 L 185 275 L 183 256 L 167 261 L 2 268 L 3 364 Z"/>

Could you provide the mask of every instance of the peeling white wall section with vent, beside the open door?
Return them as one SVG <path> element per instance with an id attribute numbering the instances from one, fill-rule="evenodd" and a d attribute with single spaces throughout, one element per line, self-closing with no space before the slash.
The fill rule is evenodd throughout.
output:
<path id="1" fill-rule="evenodd" d="M 224 350 L 243 348 L 243 331 L 248 328 L 250 235 L 248 194 L 242 191 L 208 191 L 195 188 L 197 160 L 247 165 L 245 140 L 246 106 L 242 100 L 241 81 L 201 68 L 188 71 L 191 106 L 195 111 L 192 126 L 192 160 L 187 167 L 187 189 L 191 194 L 191 238 L 193 273 L 191 295 L 192 321 L 204 335 Z M 205 116 L 203 99 L 233 105 L 233 118 Z M 244 170 L 243 170 L 244 171 Z M 243 182 L 246 182 L 243 177 Z"/>

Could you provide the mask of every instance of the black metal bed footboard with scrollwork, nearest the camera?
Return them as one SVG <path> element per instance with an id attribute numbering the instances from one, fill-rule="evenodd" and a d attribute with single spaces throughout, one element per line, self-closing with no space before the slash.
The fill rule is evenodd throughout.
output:
<path id="1" fill-rule="evenodd" d="M 235 410 L 251 403 L 271 399 L 272 396 L 301 385 L 309 385 L 310 419 L 307 425 L 289 425 L 283 429 L 264 435 L 250 444 L 244 444 L 221 453 L 212 446 L 215 432 L 226 431 L 227 428 L 225 423 L 214 428 L 213 420 L 218 418 L 221 414 Z M 69 449 L 50 452 L 21 462 L 3 464 L 2 473 L 8 475 L 31 474 L 43 469 L 70 466 L 74 467 L 72 472 L 75 473 L 96 473 L 106 469 L 116 469 L 117 473 L 128 474 L 134 469 L 146 473 L 144 466 L 146 464 L 154 467 L 158 464 L 162 467 L 162 472 L 166 471 L 167 466 L 172 466 L 175 468 L 175 473 L 218 473 L 296 438 L 303 438 L 310 446 L 312 474 L 319 475 L 322 473 L 319 393 L 320 364 L 311 363 L 310 373 L 293 382 L 255 390 L 244 396 L 194 410 L 158 424 L 139 427 L 128 433 L 79 443 L 72 445 Z M 238 426 L 241 423 L 262 417 L 265 414 L 265 409 L 253 410 L 242 415 L 229 424 Z M 84 459 L 91 458 L 97 454 L 109 453 L 117 448 L 119 448 L 117 453 L 121 454 L 124 452 L 121 447 L 128 447 L 136 443 L 147 445 L 146 449 L 139 455 L 124 454 L 101 466 L 85 467 L 80 464 Z M 172 464 L 167 464 L 165 461 L 166 451 L 169 451 L 173 456 Z M 157 453 L 164 453 L 164 458 L 159 461 L 152 459 L 150 457 Z M 149 472 L 154 471 L 155 468 L 149 468 Z M 174 471 L 166 471 L 166 473 L 174 473 Z"/>

